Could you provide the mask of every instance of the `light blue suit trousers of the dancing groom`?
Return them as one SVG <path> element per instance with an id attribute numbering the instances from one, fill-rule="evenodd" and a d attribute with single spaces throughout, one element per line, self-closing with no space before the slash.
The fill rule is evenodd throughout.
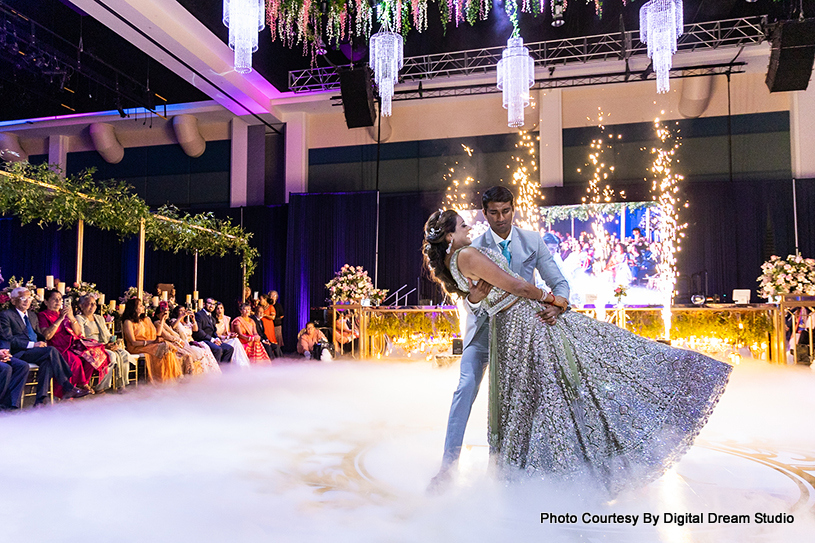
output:
<path id="1" fill-rule="evenodd" d="M 470 410 L 478 395 L 484 369 L 489 362 L 489 335 L 489 323 L 484 322 L 461 354 L 461 376 L 453 393 L 453 404 L 450 406 L 450 416 L 447 419 L 443 467 L 449 467 L 461 454 L 461 444 L 464 442 L 464 431 L 470 418 Z"/>

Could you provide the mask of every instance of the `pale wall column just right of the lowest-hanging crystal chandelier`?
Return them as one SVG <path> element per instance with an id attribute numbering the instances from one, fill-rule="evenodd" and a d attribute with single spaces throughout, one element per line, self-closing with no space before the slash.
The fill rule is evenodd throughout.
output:
<path id="1" fill-rule="evenodd" d="M 543 89 L 538 95 L 540 113 L 541 187 L 563 186 L 563 108 L 560 89 Z"/>

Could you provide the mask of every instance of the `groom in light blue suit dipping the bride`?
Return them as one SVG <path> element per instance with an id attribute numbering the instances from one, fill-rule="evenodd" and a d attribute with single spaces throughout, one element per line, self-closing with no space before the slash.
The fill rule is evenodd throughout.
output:
<path id="1" fill-rule="evenodd" d="M 537 269 L 546 285 L 555 296 L 568 300 L 569 283 L 560 273 L 552 254 L 544 245 L 540 234 L 521 230 L 512 225 L 515 216 L 514 197 L 504 187 L 487 189 L 481 197 L 484 217 L 490 229 L 473 240 L 472 247 L 493 249 L 503 253 L 513 272 L 530 283 L 535 283 Z M 470 284 L 470 293 L 465 299 L 466 332 L 464 335 L 464 352 L 461 355 L 461 376 L 458 388 L 453 394 L 453 405 L 447 420 L 447 437 L 444 441 L 444 456 L 441 470 L 433 477 L 428 490 L 436 491 L 450 480 L 452 468 L 461 454 L 464 441 L 464 430 L 470 409 L 478 394 L 484 368 L 489 361 L 489 324 L 486 311 L 481 311 L 481 300 L 489 293 L 492 285 L 480 281 L 478 285 Z M 555 318 L 562 309 L 546 304 L 538 313 L 543 322 L 554 324 Z"/>

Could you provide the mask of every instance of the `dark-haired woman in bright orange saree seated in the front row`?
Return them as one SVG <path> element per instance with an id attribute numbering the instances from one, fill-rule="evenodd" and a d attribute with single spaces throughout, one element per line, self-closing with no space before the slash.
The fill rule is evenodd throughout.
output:
<path id="1" fill-rule="evenodd" d="M 174 381 L 181 377 L 181 361 L 175 355 L 175 347 L 161 337 L 167 324 L 165 314 L 159 319 L 156 328 L 144 314 L 144 304 L 139 298 L 131 298 L 122 313 L 122 335 L 127 350 L 133 354 L 144 354 L 147 362 L 147 377 L 154 382 Z"/>

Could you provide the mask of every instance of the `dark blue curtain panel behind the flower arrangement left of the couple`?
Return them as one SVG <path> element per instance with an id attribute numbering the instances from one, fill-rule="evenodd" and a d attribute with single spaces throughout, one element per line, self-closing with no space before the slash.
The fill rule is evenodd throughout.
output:
<path id="1" fill-rule="evenodd" d="M 343 266 L 362 266 L 373 276 L 376 192 L 292 194 L 286 246 L 284 340 L 293 345 L 311 308 L 326 305 L 325 284 Z M 391 227 L 402 230 L 398 221 Z"/>

